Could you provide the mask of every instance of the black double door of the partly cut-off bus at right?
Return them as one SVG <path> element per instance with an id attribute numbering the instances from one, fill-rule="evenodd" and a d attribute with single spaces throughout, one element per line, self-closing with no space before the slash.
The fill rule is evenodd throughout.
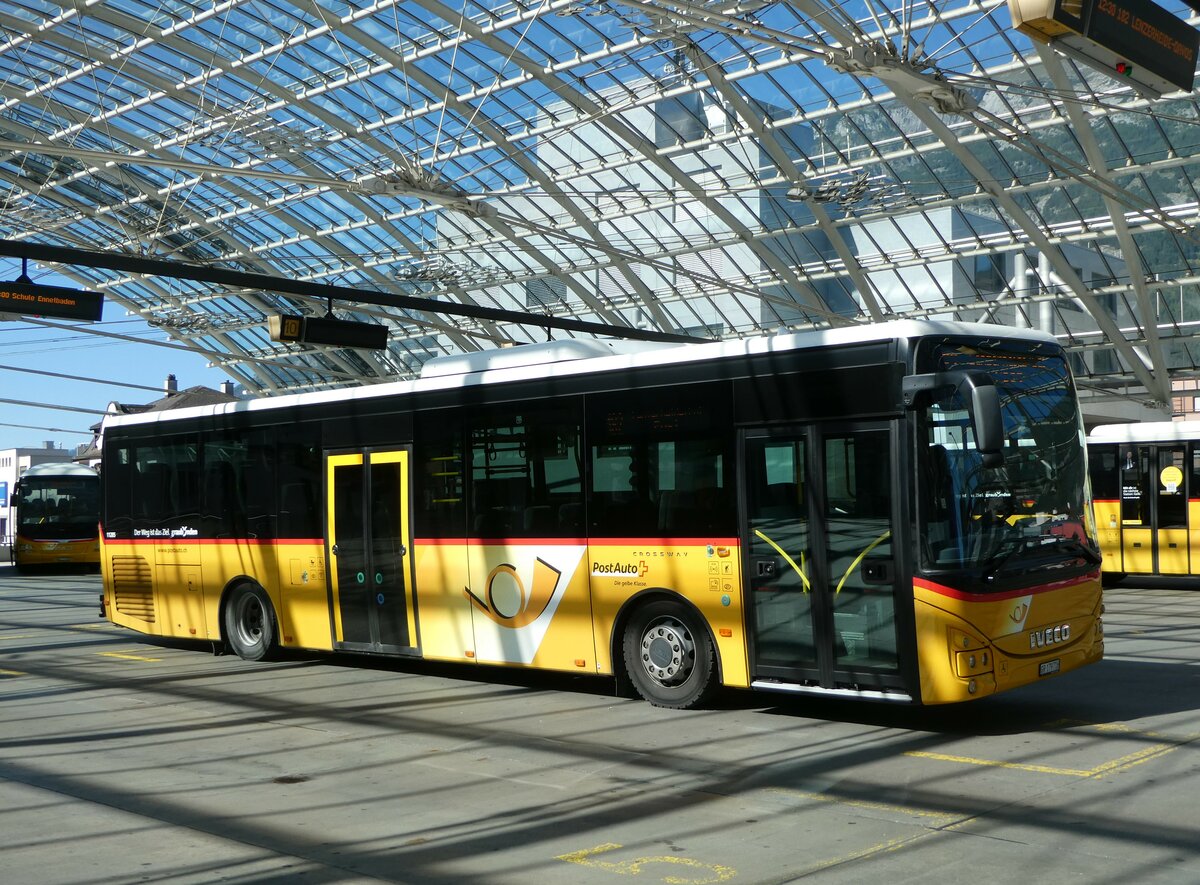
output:
<path id="1" fill-rule="evenodd" d="M 1121 571 L 1188 573 L 1187 446 L 1121 446 Z"/>

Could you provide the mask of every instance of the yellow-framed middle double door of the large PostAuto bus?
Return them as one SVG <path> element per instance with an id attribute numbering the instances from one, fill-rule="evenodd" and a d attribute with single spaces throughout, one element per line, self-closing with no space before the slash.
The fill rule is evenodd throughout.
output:
<path id="1" fill-rule="evenodd" d="M 325 457 L 335 648 L 416 651 L 408 460 L 408 451 Z"/>

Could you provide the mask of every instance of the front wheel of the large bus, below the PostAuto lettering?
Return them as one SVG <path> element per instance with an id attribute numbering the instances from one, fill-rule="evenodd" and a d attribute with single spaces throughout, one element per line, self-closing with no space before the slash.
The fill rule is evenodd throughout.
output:
<path id="1" fill-rule="evenodd" d="M 625 673 L 655 706 L 688 710 L 716 687 L 716 651 L 704 622 L 686 606 L 654 600 L 625 624 Z"/>

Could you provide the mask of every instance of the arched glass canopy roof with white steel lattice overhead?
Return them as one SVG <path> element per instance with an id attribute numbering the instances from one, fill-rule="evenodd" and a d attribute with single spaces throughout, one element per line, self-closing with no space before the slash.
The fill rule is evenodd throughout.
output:
<path id="1" fill-rule="evenodd" d="M 990 0 L 0 7 L 0 239 L 316 284 L 59 267 L 260 393 L 595 331 L 551 320 L 938 317 L 1050 331 L 1091 396 L 1164 403 L 1200 375 L 1198 180 L 1194 94 Z M 270 339 L 324 284 L 386 350 Z"/>

